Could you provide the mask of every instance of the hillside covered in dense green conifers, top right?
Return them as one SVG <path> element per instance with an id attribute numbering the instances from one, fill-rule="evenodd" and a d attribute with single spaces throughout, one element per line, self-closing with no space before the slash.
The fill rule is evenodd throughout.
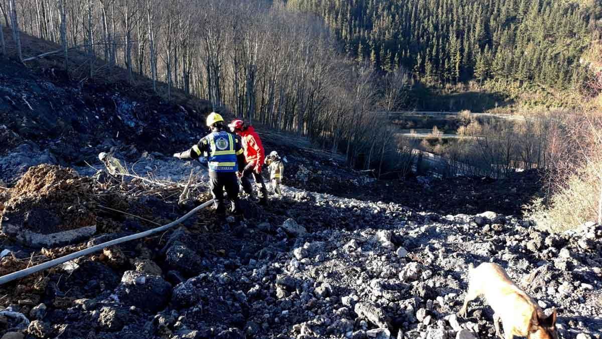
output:
<path id="1" fill-rule="evenodd" d="M 602 5 L 553 0 L 291 0 L 324 18 L 346 51 L 430 84 L 583 81 L 580 56 L 602 29 Z M 597 32 L 597 33 L 596 33 Z"/>

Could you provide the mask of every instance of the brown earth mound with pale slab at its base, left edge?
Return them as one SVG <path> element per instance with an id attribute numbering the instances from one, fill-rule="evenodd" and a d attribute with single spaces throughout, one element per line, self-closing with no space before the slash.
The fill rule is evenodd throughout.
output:
<path id="1" fill-rule="evenodd" d="M 96 232 L 90 179 L 55 165 L 29 168 L 8 192 L 2 233 L 29 247 L 73 244 Z"/>

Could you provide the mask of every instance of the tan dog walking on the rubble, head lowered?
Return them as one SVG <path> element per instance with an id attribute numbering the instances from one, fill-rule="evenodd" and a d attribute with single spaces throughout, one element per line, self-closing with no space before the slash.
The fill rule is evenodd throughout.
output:
<path id="1" fill-rule="evenodd" d="M 556 310 L 545 315 L 537 303 L 521 290 L 500 265 L 483 262 L 477 268 L 468 267 L 468 292 L 459 312 L 467 317 L 468 303 L 485 296 L 494 311 L 495 335 L 504 339 L 514 336 L 527 339 L 558 339 L 556 333 Z M 500 320 L 504 326 L 504 337 L 500 334 Z"/>

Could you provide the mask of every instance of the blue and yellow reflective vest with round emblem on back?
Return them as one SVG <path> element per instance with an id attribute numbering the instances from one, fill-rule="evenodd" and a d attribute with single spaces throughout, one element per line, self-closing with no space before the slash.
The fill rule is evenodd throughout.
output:
<path id="1" fill-rule="evenodd" d="M 238 164 L 234 150 L 234 136 L 226 131 L 212 132 L 206 138 L 209 141 L 207 162 L 209 171 L 236 172 Z"/>

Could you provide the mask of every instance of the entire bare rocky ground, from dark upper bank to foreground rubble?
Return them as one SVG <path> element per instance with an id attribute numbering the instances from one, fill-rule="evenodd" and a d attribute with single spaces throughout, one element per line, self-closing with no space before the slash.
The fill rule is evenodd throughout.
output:
<path id="1" fill-rule="evenodd" d="M 0 63 L 0 274 L 208 200 L 202 166 L 169 157 L 203 133 L 207 109 Z M 282 199 L 243 198 L 243 225 L 219 226 L 207 209 L 1 285 L 0 338 L 486 338 L 482 300 L 456 313 L 467 265 L 488 261 L 558 311 L 562 338 L 600 338 L 602 227 L 550 234 L 521 220 L 536 173 L 374 182 L 323 153 L 265 145 L 287 155 Z M 107 150 L 138 178 L 93 169 Z"/>

